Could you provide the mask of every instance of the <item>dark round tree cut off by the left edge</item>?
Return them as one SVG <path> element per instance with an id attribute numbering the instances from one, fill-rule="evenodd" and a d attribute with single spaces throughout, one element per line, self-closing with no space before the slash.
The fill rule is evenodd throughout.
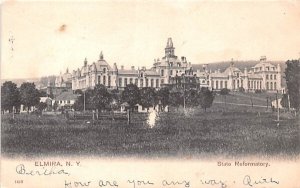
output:
<path id="1" fill-rule="evenodd" d="M 13 111 L 13 107 L 20 108 L 20 92 L 17 85 L 11 81 L 4 82 L 1 86 L 1 109 Z"/>

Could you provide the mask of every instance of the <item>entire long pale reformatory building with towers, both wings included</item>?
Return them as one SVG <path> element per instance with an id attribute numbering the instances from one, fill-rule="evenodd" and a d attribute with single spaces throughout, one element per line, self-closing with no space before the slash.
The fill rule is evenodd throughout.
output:
<path id="1" fill-rule="evenodd" d="M 68 79 L 64 79 L 66 77 Z M 103 84 L 111 89 L 123 89 L 127 84 L 133 83 L 138 87 L 160 88 L 167 85 L 193 82 L 198 87 L 208 87 L 214 90 L 227 88 L 230 90 L 245 91 L 281 90 L 280 66 L 267 62 L 266 57 L 261 57 L 260 62 L 249 70 L 240 70 L 232 61 L 224 71 L 209 70 L 208 65 L 195 69 L 186 57 L 178 58 L 171 38 L 168 38 L 165 55 L 161 59 L 154 59 L 150 69 L 146 67 L 131 69 L 120 68 L 116 63 L 113 66 L 104 59 L 102 52 L 99 60 L 88 64 L 84 60 L 83 66 L 74 70 L 72 74 L 66 72 L 58 78 L 57 86 L 62 86 L 62 80 L 72 80 L 72 90 L 85 90 L 97 84 Z"/>

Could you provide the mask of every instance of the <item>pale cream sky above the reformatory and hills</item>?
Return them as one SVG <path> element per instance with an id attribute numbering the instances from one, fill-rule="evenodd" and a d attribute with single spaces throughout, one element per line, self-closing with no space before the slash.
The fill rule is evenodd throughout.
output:
<path id="1" fill-rule="evenodd" d="M 192 64 L 298 59 L 300 1 L 6 1 L 1 78 L 58 75 L 101 51 L 111 65 L 150 68 L 169 37 Z"/>

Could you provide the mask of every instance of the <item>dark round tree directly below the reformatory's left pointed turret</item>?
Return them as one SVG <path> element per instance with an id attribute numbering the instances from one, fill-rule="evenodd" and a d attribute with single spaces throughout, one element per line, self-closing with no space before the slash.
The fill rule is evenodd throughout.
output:
<path id="1" fill-rule="evenodd" d="M 96 85 L 90 98 L 92 108 L 100 112 L 105 109 L 110 109 L 111 101 L 111 94 L 107 91 L 106 87 L 102 84 Z"/>

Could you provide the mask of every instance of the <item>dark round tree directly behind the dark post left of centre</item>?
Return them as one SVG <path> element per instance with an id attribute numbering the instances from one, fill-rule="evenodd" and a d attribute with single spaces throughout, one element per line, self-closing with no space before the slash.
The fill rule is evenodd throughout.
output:
<path id="1" fill-rule="evenodd" d="M 135 84 L 128 84 L 122 92 L 122 101 L 127 102 L 130 109 L 140 103 L 141 95 L 139 88 Z"/>

